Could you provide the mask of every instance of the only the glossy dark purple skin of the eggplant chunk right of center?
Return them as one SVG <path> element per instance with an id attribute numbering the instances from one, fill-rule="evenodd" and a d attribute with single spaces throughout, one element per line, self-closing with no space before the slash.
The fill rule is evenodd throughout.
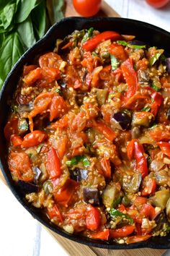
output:
<path id="1" fill-rule="evenodd" d="M 115 119 L 115 121 L 120 124 L 120 127 L 122 127 L 122 129 L 130 129 L 132 119 L 128 114 L 119 111 L 112 116 L 112 119 Z"/>

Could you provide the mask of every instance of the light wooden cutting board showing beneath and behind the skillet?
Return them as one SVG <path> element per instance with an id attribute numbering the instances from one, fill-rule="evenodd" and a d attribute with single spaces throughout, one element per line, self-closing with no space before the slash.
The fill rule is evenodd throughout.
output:
<path id="1" fill-rule="evenodd" d="M 91 0 L 93 1 L 93 0 Z M 75 9 L 73 8 L 73 4 L 71 0 L 66 0 L 66 17 L 71 16 L 80 16 Z M 102 17 L 120 17 L 117 12 L 114 11 L 109 5 L 102 1 L 102 8 L 100 12 L 97 14 L 97 16 Z M 6 184 L 6 181 L 4 179 L 3 174 L 0 170 L 0 179 L 4 184 Z M 58 234 L 55 234 L 53 231 L 50 231 L 50 229 L 47 229 L 44 227 L 50 235 L 53 236 L 53 238 L 61 244 L 63 249 L 68 252 L 68 255 L 71 256 L 161 256 L 166 252 L 164 249 L 129 249 L 129 250 L 109 250 L 109 249 L 99 249 L 95 247 L 88 247 L 84 244 L 79 244 L 76 242 L 73 242 L 69 239 L 64 238 L 63 236 L 59 236 Z"/>

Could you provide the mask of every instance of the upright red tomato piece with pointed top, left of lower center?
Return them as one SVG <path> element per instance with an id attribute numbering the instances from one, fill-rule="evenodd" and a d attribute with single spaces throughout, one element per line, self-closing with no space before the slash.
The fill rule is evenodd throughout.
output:
<path id="1" fill-rule="evenodd" d="M 50 179 L 56 179 L 61 176 L 61 161 L 58 158 L 58 154 L 56 153 L 54 148 L 51 148 L 50 151 L 48 151 L 46 167 L 48 170 L 48 174 L 50 175 Z"/>

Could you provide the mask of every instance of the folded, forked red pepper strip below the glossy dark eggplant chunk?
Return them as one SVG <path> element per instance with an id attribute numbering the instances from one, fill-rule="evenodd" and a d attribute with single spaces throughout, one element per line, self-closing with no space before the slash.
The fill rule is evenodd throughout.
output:
<path id="1" fill-rule="evenodd" d="M 134 145 L 133 145 L 134 144 Z M 145 156 L 143 155 L 145 153 L 143 149 L 143 145 L 141 145 L 138 140 L 133 139 L 128 144 L 128 157 L 130 160 L 132 160 L 133 157 L 135 157 L 135 161 L 137 163 L 137 168 L 140 170 L 140 173 L 142 174 L 142 177 L 148 175 L 148 166 Z"/>

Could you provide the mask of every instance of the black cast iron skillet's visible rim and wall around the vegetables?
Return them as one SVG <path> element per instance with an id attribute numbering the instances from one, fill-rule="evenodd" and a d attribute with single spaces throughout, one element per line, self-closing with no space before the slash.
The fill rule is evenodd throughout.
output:
<path id="1" fill-rule="evenodd" d="M 57 22 L 53 27 L 48 30 L 48 33 L 39 40 L 32 48 L 30 48 L 15 64 L 12 71 L 9 73 L 0 94 L 0 167 L 4 174 L 7 184 L 12 190 L 17 200 L 26 208 L 31 215 L 36 218 L 40 223 L 47 226 L 49 229 L 55 231 L 61 236 L 65 236 L 73 241 L 86 244 L 93 247 L 101 247 L 107 249 L 133 249 L 141 247 L 150 247 L 156 249 L 170 248 L 170 236 L 165 237 L 152 237 L 146 242 L 138 244 L 116 244 L 115 242 L 104 242 L 99 240 L 91 240 L 86 237 L 81 237 L 75 234 L 68 234 L 65 231 L 50 223 L 49 219 L 42 215 L 40 210 L 34 208 L 25 199 L 21 191 L 12 181 L 9 168 L 6 163 L 6 144 L 4 140 L 4 125 L 6 124 L 7 114 L 9 111 L 8 100 L 12 98 L 14 90 L 17 85 L 19 77 L 22 75 L 22 67 L 24 64 L 31 64 L 32 59 L 37 54 L 43 54 L 45 51 L 53 51 L 55 40 L 57 38 L 64 38 L 69 35 L 73 30 L 82 30 L 84 28 L 94 27 L 97 30 L 115 30 L 121 34 L 136 35 L 137 40 L 141 40 L 150 44 L 151 46 L 158 46 L 164 48 L 166 56 L 170 54 L 170 33 L 162 30 L 161 28 L 149 25 L 145 22 L 137 20 L 129 20 L 123 18 L 108 18 L 108 17 L 94 17 L 85 19 L 81 17 L 69 17 Z"/>

